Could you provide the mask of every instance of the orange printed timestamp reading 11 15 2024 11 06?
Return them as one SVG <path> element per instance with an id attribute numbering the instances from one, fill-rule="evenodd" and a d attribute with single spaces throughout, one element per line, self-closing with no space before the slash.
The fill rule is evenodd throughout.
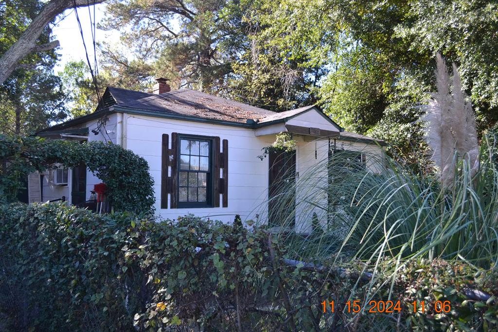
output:
<path id="1" fill-rule="evenodd" d="M 332 301 L 323 301 L 321 303 L 322 309 L 324 313 L 334 313 L 336 310 L 336 303 L 334 300 Z M 408 310 L 412 310 L 412 312 L 421 312 L 425 313 L 428 309 L 428 305 L 425 301 L 413 301 L 406 304 Z M 436 301 L 432 305 L 434 311 L 436 313 L 449 313 L 451 311 L 451 303 L 450 301 Z M 401 312 L 401 301 L 369 301 L 369 304 L 366 308 L 366 312 L 372 314 L 392 314 Z M 361 301 L 353 300 L 347 301 L 344 305 L 344 311 L 347 313 L 359 313 L 362 311 Z"/>

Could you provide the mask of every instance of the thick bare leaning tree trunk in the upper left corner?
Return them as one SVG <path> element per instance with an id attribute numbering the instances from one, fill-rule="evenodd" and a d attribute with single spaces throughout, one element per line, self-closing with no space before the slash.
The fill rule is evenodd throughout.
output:
<path id="1" fill-rule="evenodd" d="M 87 6 L 101 3 L 105 0 L 51 0 L 42 11 L 33 19 L 24 33 L 0 58 L 0 85 L 5 82 L 9 75 L 16 69 L 17 64 L 26 55 L 33 51 L 47 51 L 59 46 L 58 41 L 52 41 L 45 45 L 37 45 L 36 40 L 43 32 L 48 23 L 52 22 L 57 15 L 67 8 Z"/>

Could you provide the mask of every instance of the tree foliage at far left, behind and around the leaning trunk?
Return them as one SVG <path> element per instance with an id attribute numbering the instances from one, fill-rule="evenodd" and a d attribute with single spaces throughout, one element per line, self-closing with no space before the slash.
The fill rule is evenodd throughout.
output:
<path id="1" fill-rule="evenodd" d="M 5 0 L 0 3 L 0 55 L 19 38 L 30 21 L 41 11 L 41 0 Z M 47 27 L 38 42 L 50 41 Z M 51 121 L 63 120 L 65 94 L 54 75 L 55 51 L 32 52 L 0 85 L 0 133 L 31 134 Z"/>

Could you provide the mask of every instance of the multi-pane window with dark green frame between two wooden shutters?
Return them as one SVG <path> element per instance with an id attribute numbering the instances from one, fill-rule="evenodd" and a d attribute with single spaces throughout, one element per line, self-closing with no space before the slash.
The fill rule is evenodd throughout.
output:
<path id="1" fill-rule="evenodd" d="M 178 207 L 212 206 L 212 140 L 179 137 Z"/>

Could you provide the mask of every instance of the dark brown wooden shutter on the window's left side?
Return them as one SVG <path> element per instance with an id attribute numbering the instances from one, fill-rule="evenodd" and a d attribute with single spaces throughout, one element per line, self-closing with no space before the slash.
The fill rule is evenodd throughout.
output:
<path id="1" fill-rule="evenodd" d="M 168 208 L 168 194 L 171 196 L 170 208 L 178 206 L 178 133 L 171 133 L 171 149 L 168 134 L 162 134 L 161 152 L 161 209 Z M 171 167 L 171 176 L 168 176 Z"/>

